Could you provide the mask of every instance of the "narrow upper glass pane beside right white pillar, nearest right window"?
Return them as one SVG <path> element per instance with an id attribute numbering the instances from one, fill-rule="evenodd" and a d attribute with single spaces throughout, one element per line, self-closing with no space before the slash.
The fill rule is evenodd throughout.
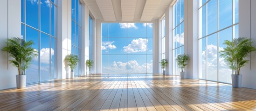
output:
<path id="1" fill-rule="evenodd" d="M 206 36 L 206 6 L 199 9 L 199 38 Z"/>

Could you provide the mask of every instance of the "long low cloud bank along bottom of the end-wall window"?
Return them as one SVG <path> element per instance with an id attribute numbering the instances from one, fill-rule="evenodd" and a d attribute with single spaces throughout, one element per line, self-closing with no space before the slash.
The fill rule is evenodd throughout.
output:
<path id="1" fill-rule="evenodd" d="M 137 61 L 132 60 L 129 62 L 113 62 L 110 67 L 103 67 L 103 73 L 109 71 L 109 73 L 152 73 L 153 64 L 144 63 L 139 65 Z"/>

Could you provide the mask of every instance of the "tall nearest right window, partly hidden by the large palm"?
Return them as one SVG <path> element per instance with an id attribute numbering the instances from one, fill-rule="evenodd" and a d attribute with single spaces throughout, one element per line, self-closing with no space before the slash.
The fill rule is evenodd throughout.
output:
<path id="1" fill-rule="evenodd" d="M 238 0 L 199 0 L 199 79 L 231 83 L 219 51 L 238 37 Z"/>

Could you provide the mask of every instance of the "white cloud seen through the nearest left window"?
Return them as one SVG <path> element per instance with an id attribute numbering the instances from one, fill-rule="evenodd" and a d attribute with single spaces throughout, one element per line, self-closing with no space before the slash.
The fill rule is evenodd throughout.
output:
<path id="1" fill-rule="evenodd" d="M 51 56 L 54 56 L 54 49 L 51 49 Z M 43 48 L 40 51 L 40 60 L 42 63 L 49 63 L 50 61 L 50 48 Z M 38 61 L 38 57 L 35 58 Z"/>

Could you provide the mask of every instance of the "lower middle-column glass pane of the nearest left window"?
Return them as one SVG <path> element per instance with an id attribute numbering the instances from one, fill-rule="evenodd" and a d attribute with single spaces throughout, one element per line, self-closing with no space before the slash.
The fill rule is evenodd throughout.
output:
<path id="1" fill-rule="evenodd" d="M 50 56 L 54 54 L 50 49 L 50 37 L 44 33 L 41 33 L 41 50 L 40 50 L 40 71 L 41 81 L 50 79 Z"/>

